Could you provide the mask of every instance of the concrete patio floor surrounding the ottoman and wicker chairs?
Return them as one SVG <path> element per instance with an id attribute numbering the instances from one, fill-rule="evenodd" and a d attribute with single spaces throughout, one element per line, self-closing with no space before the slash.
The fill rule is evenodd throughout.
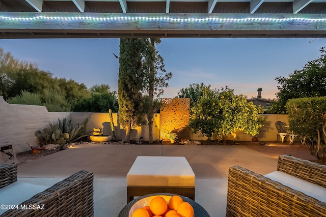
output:
<path id="1" fill-rule="evenodd" d="M 264 175 L 276 170 L 281 154 L 316 160 L 300 143 L 292 147 L 279 143 L 264 146 L 80 144 L 19 164 L 18 181 L 50 187 L 79 170 L 91 171 L 94 216 L 118 216 L 127 203 L 126 174 L 137 156 L 183 156 L 196 175 L 195 201 L 210 216 L 220 217 L 226 212 L 228 169 L 239 165 Z"/>

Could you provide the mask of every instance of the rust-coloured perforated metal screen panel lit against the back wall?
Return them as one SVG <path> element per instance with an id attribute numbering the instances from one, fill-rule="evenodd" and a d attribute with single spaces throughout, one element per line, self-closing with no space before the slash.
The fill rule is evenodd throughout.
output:
<path id="1" fill-rule="evenodd" d="M 178 139 L 189 138 L 189 111 L 190 99 L 188 98 L 163 98 L 160 109 L 160 136 L 174 132 Z"/>

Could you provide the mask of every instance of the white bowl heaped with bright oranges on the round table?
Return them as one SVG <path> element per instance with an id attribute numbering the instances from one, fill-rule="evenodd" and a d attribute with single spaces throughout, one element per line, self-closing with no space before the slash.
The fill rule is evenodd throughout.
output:
<path id="1" fill-rule="evenodd" d="M 129 210 L 129 217 L 194 217 L 194 208 L 178 196 L 145 197 Z"/>

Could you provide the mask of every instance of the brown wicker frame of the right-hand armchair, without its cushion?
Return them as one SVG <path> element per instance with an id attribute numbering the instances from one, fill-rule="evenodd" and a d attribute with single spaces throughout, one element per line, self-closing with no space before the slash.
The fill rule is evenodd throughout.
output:
<path id="1" fill-rule="evenodd" d="M 280 156 L 278 171 L 326 188 L 326 166 Z M 248 169 L 229 170 L 226 216 L 326 216 L 326 203 Z"/>

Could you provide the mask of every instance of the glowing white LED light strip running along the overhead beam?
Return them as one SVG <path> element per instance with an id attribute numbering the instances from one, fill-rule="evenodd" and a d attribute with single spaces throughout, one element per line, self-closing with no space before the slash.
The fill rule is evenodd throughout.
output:
<path id="1" fill-rule="evenodd" d="M 35 21 L 35 20 L 66 20 L 66 21 L 168 21 L 168 22 L 324 22 L 326 18 L 171 18 L 171 17 L 50 17 L 50 16 L 35 16 L 35 17 L 7 17 L 0 16 L 0 20 L 15 20 L 15 21 Z"/>

